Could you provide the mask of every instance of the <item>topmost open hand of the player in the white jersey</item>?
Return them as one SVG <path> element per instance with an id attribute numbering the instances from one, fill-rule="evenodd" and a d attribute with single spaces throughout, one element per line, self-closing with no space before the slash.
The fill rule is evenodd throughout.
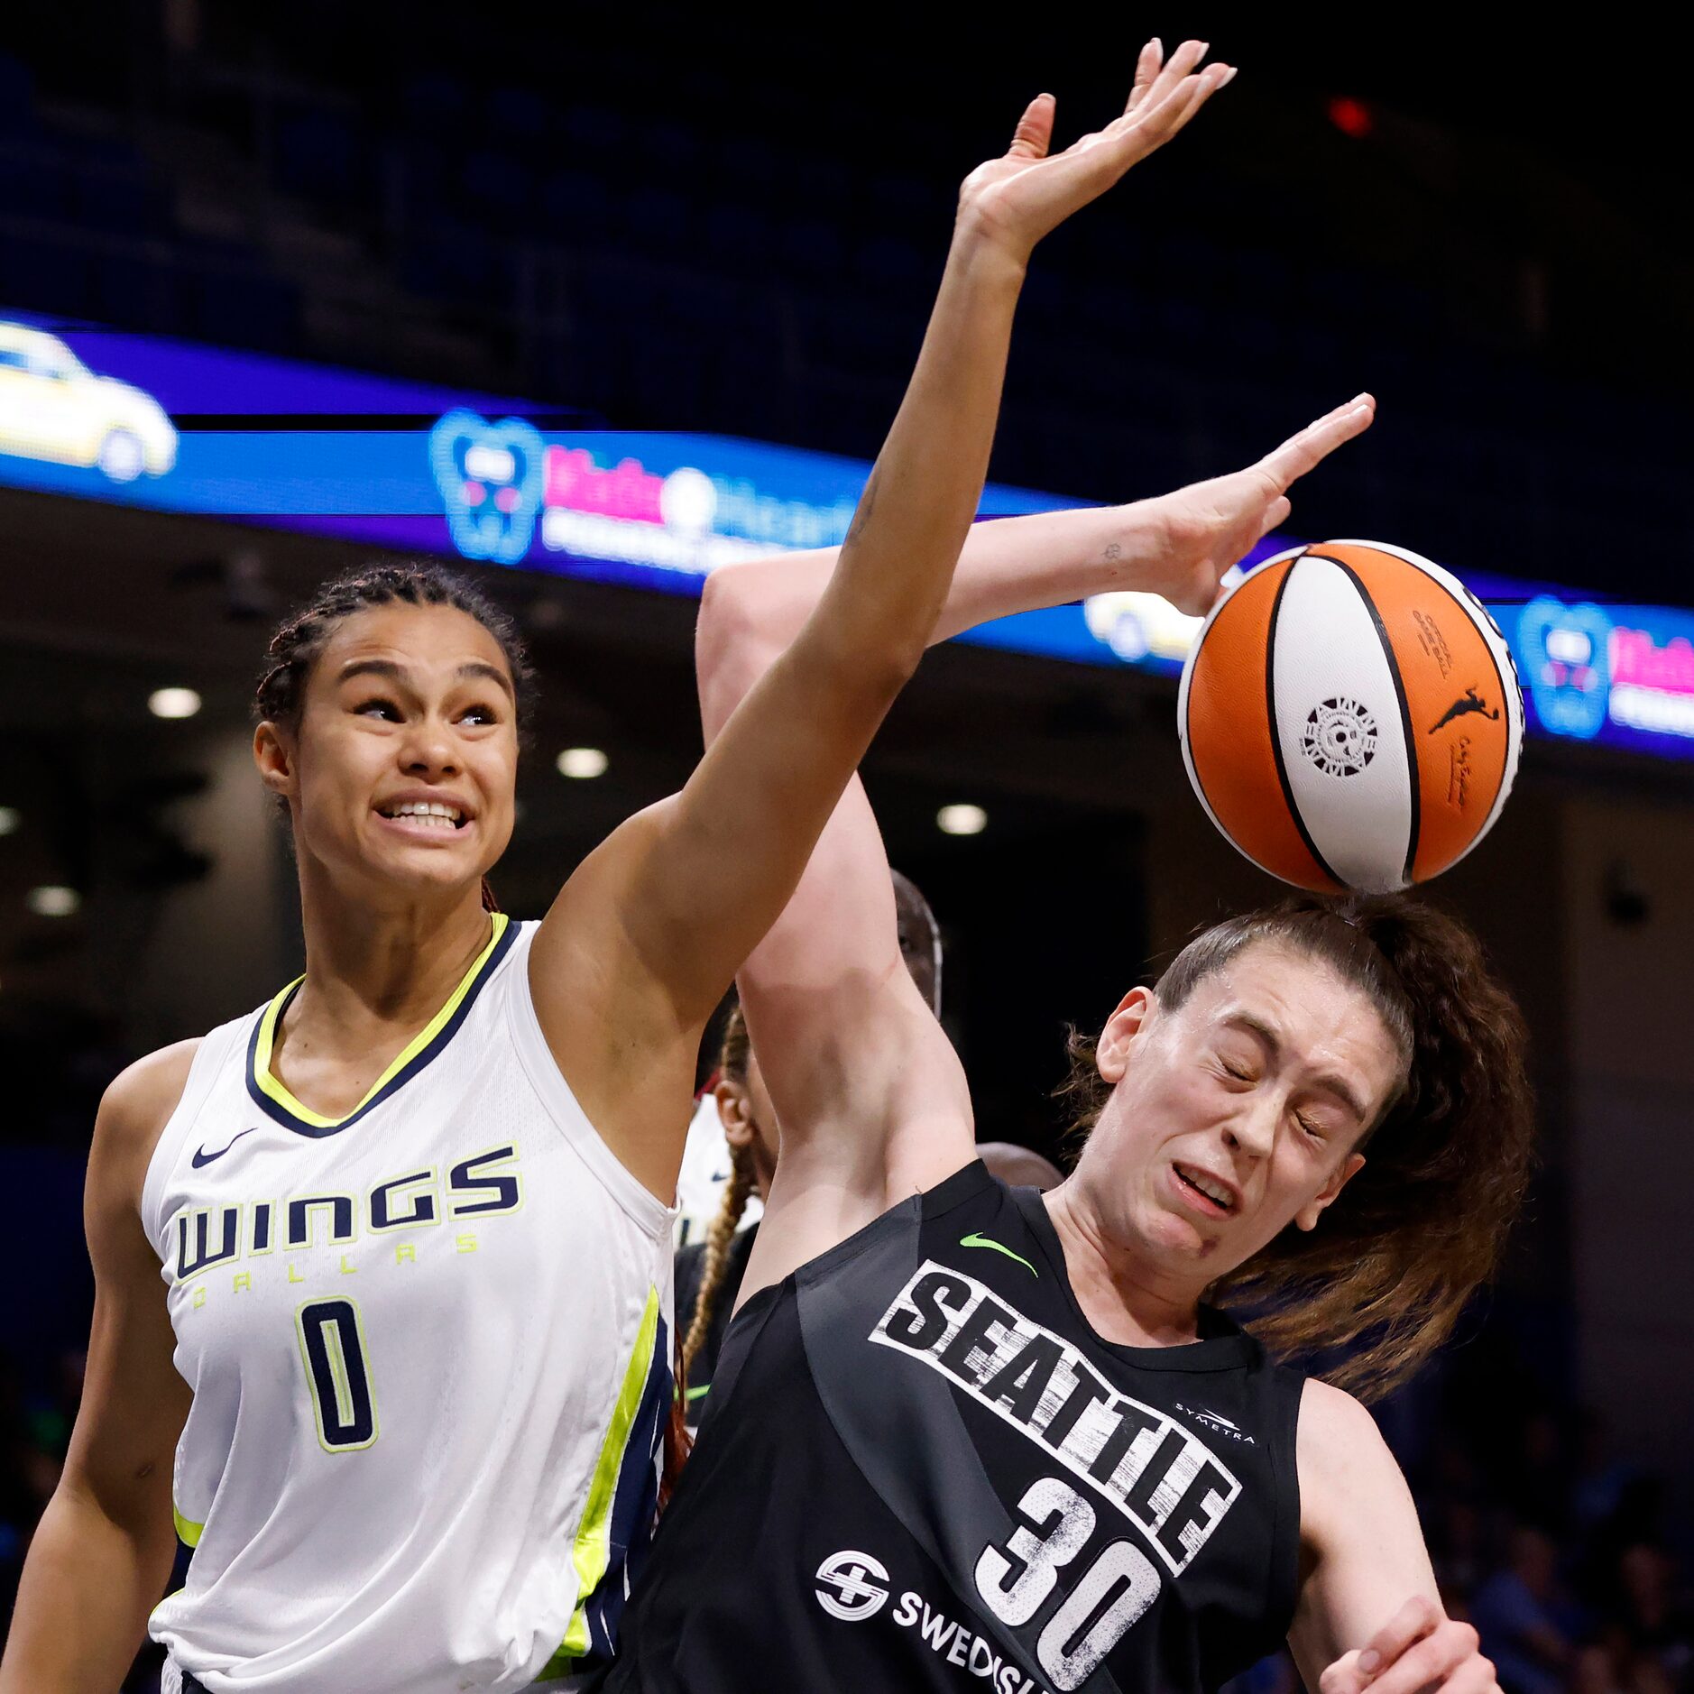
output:
<path id="1" fill-rule="evenodd" d="M 1123 115 L 1049 156 L 1054 97 L 1037 95 L 1018 122 L 1011 147 L 979 164 L 959 191 L 959 222 L 999 242 L 1021 264 L 1049 230 L 1099 198 L 1132 164 L 1162 147 L 1235 76 L 1228 64 L 1198 68 L 1206 42 L 1184 41 L 1169 63 L 1157 41 L 1135 61 L 1135 86 Z"/>

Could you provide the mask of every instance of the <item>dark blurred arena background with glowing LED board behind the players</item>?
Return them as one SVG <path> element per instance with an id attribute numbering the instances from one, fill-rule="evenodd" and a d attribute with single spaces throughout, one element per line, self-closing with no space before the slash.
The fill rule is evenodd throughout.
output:
<path id="1" fill-rule="evenodd" d="M 1379 1416 L 1508 1694 L 1694 1689 L 1686 91 L 1628 20 L 1233 10 L 8 12 L 7 1606 L 76 1413 L 100 1093 L 300 969 L 249 754 L 274 617 L 373 552 L 476 561 L 540 673 L 495 877 L 539 916 L 698 757 L 705 567 L 840 539 L 962 173 L 1040 88 L 1069 139 L 1147 34 L 1210 29 L 1237 85 L 1037 254 L 984 513 L 1159 493 L 1377 395 L 1287 532 L 1443 562 L 1513 645 L 1518 788 L 1433 893 L 1520 996 L 1540 1101 L 1503 1276 Z M 983 1138 L 1064 1162 L 1066 1027 L 1274 893 L 1184 778 L 1191 634 L 1133 596 L 1008 620 L 871 752 Z"/>

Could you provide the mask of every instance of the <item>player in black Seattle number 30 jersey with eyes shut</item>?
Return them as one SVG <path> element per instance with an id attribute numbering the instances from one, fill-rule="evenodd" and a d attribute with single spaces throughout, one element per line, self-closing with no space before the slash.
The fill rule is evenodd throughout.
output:
<path id="1" fill-rule="evenodd" d="M 1367 422 L 1164 501 L 988 525 L 937 639 L 1108 586 L 1204 610 Z M 715 579 L 708 737 L 813 574 Z M 1426 1357 L 1521 1194 L 1523 1027 L 1469 932 L 1309 898 L 1208 930 L 1081 1054 L 1091 1133 L 1049 1196 L 974 1159 L 857 783 L 740 984 L 781 1159 L 606 1694 L 1162 1694 L 1282 1640 L 1323 1694 L 1491 1694 L 1345 1391 Z M 1282 1362 L 1328 1348 L 1331 1382 Z"/>

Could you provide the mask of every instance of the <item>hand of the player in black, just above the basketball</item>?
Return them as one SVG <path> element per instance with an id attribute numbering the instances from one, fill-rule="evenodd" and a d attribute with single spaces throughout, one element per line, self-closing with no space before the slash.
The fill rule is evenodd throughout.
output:
<path id="1" fill-rule="evenodd" d="M 1362 435 L 1374 417 L 1376 400 L 1359 395 L 1245 471 L 1193 483 L 1152 501 L 1159 508 L 1162 557 L 1149 583 L 1152 591 L 1179 612 L 1194 617 L 1210 612 L 1225 573 L 1252 552 L 1254 542 L 1286 522 L 1289 488 L 1342 442 Z"/>

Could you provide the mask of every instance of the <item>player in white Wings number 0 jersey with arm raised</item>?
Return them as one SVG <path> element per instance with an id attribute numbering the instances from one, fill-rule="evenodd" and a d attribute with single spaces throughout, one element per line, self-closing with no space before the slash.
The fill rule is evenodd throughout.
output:
<path id="1" fill-rule="evenodd" d="M 484 903 L 525 683 L 505 620 L 376 567 L 276 637 L 254 750 L 307 971 L 102 1104 L 83 1409 L 0 1694 L 117 1689 L 176 1533 L 173 1691 L 507 1691 L 605 1652 L 654 1516 L 701 1028 L 928 640 L 1030 252 L 1228 80 L 1201 56 L 1143 56 L 1133 108 L 1054 156 L 1040 97 L 967 178 L 817 615 L 540 923 Z"/>

